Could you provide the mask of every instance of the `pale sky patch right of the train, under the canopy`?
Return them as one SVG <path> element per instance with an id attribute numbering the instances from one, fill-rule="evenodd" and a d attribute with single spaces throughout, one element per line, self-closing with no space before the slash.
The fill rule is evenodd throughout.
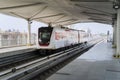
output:
<path id="1" fill-rule="evenodd" d="M 108 24 L 101 24 L 101 23 L 78 23 L 73 25 L 75 29 L 81 29 L 81 30 L 90 30 L 93 34 L 100 34 L 104 33 L 107 34 L 109 31 L 110 33 L 113 32 L 112 25 Z"/>

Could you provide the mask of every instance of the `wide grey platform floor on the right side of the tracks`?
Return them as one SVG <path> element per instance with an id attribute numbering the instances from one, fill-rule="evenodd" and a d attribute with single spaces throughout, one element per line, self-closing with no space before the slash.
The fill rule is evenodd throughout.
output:
<path id="1" fill-rule="evenodd" d="M 47 80 L 120 80 L 120 60 L 114 53 L 111 43 L 98 43 Z"/>

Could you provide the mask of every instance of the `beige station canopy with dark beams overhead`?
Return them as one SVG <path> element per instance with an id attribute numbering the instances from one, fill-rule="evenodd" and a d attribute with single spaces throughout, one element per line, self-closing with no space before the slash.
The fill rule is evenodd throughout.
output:
<path id="1" fill-rule="evenodd" d="M 112 24 L 117 0 L 0 0 L 0 13 L 53 25 Z"/>

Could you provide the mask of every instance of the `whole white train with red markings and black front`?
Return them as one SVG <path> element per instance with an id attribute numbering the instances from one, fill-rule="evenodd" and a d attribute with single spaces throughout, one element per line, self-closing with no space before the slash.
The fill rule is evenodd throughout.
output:
<path id="1" fill-rule="evenodd" d="M 38 49 L 58 49 L 84 42 L 84 31 L 61 27 L 41 27 L 38 29 Z"/>

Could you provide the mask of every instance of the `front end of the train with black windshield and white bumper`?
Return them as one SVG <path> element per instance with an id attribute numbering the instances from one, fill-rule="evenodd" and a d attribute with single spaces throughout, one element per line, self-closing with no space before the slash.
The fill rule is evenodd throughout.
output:
<path id="1" fill-rule="evenodd" d="M 52 27 L 41 27 L 38 29 L 38 49 L 51 49 L 50 40 L 52 31 Z"/>

